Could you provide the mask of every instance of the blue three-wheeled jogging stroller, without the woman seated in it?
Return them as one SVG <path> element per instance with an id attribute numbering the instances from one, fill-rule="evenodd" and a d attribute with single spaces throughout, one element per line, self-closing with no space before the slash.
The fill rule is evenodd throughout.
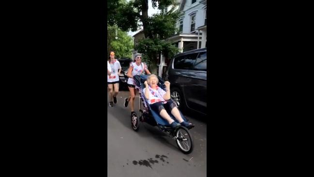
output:
<path id="1" fill-rule="evenodd" d="M 170 135 L 172 139 L 174 139 L 180 149 L 184 154 L 190 154 L 193 151 L 193 139 L 189 129 L 180 126 L 178 128 L 169 128 L 169 123 L 164 120 L 159 113 L 150 109 L 150 105 L 144 96 L 143 89 L 145 88 L 144 82 L 147 80 L 148 75 L 137 75 L 134 76 L 135 80 L 135 89 L 138 90 L 139 93 L 139 117 L 133 116 L 131 117 L 132 128 L 135 131 L 138 131 L 140 122 L 146 122 L 151 126 L 157 126 L 161 131 L 164 131 Z M 159 76 L 158 86 L 165 90 L 164 80 L 162 80 Z M 142 107 L 143 105 L 143 107 Z M 143 109 L 142 109 L 143 108 Z M 184 121 L 187 121 L 186 118 L 180 112 L 181 117 Z M 169 113 L 170 117 L 174 119 L 177 123 L 179 123 L 176 118 Z M 190 128 L 192 129 L 192 128 Z"/>

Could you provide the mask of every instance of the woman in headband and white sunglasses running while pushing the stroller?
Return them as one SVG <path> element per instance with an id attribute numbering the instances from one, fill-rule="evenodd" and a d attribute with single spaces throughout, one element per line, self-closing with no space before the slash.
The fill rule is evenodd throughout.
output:
<path id="1" fill-rule="evenodd" d="M 135 90 L 135 82 L 133 76 L 142 75 L 142 74 L 150 74 L 150 71 L 147 68 L 147 65 L 142 62 L 142 55 L 140 53 L 135 54 L 134 61 L 130 64 L 128 74 L 128 87 L 130 91 L 130 97 L 124 99 L 124 107 L 127 107 L 129 102 L 131 103 L 131 117 L 136 116 L 134 112 L 134 100 L 136 95 Z"/>

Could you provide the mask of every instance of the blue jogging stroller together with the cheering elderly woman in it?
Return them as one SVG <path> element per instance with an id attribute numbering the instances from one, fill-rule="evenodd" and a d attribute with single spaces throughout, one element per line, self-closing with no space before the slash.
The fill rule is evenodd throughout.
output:
<path id="1" fill-rule="evenodd" d="M 133 77 L 135 88 L 139 91 L 139 115 L 131 117 L 131 125 L 139 130 L 139 123 L 146 122 L 151 126 L 168 133 L 184 154 L 193 151 L 194 143 L 189 129 L 194 125 L 180 113 L 170 99 L 170 82 L 156 75 L 136 75 Z M 143 110 L 142 110 L 142 104 Z"/>

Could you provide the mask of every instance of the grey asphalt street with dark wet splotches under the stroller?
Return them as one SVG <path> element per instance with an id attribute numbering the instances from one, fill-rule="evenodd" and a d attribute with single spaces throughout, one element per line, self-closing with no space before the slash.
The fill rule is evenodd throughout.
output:
<path id="1" fill-rule="evenodd" d="M 194 151 L 185 155 L 174 140 L 147 123 L 131 128 L 130 107 L 124 108 L 129 93 L 120 91 L 118 102 L 108 107 L 107 115 L 107 176 L 108 177 L 206 177 L 207 136 L 205 117 L 183 113 L 195 124 L 191 129 Z M 107 106 L 109 98 L 107 97 Z M 138 94 L 135 112 L 138 114 Z"/>

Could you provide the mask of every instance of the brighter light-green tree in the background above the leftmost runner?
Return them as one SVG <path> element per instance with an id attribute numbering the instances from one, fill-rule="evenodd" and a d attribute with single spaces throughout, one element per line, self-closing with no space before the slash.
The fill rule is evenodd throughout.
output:
<path id="1" fill-rule="evenodd" d="M 117 26 L 108 26 L 107 40 L 110 44 L 108 52 L 110 50 L 115 51 L 117 58 L 132 58 L 131 50 L 134 48 L 134 42 L 127 32 L 121 31 Z"/>

